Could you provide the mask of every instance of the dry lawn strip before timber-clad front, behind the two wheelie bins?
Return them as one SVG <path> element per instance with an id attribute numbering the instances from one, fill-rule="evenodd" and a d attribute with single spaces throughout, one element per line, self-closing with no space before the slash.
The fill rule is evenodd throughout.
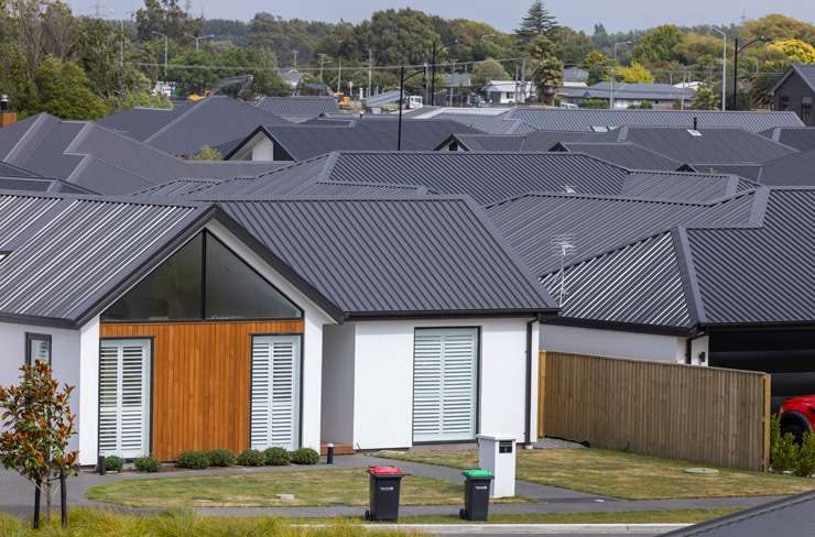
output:
<path id="1" fill-rule="evenodd" d="M 294 500 L 280 500 L 278 494 L 294 494 Z M 363 468 L 348 468 L 128 479 L 91 486 L 86 496 L 128 507 L 361 507 L 368 505 L 368 473 Z M 461 502 L 461 485 L 419 475 L 402 479 L 402 505 L 456 505 Z"/>

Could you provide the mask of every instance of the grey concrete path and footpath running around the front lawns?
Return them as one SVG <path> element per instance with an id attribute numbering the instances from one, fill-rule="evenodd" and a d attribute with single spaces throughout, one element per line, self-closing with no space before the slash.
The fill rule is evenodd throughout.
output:
<path id="1" fill-rule="evenodd" d="M 365 454 L 337 457 L 336 468 L 365 468 L 369 465 L 398 464 L 408 473 L 434 478 L 448 483 L 459 484 L 463 482 L 461 471 L 458 469 L 422 464 L 416 462 L 393 461 Z M 296 469 L 297 471 L 320 471 L 324 464 L 315 467 L 262 467 L 242 468 L 232 467 L 225 469 L 208 469 L 198 471 L 173 471 L 153 474 L 126 472 L 122 474 L 108 474 L 105 476 L 90 472 L 82 472 L 78 478 L 68 480 L 68 503 L 73 506 L 88 505 L 97 507 L 115 508 L 117 511 L 133 511 L 124 507 L 111 507 L 99 502 L 85 498 L 85 491 L 100 483 L 122 479 L 170 479 L 184 475 L 218 475 L 240 474 L 254 472 L 284 472 Z M 621 511 L 667 511 L 685 508 L 711 508 L 711 507 L 751 507 L 774 497 L 724 497 L 724 498 L 699 498 L 699 500 L 650 500 L 650 501 L 623 501 L 597 496 L 583 492 L 546 486 L 524 481 L 518 481 L 517 494 L 530 498 L 529 503 L 493 504 L 490 506 L 492 513 L 521 514 L 521 513 L 575 513 L 575 512 L 621 512 Z M 0 509 L 29 516 L 34 497 L 34 489 L 28 481 L 18 474 L 0 471 Z M 55 500 L 55 505 L 57 504 Z M 458 515 L 460 505 L 422 505 L 403 506 L 403 515 Z M 146 509 L 141 509 L 146 511 Z M 202 507 L 197 509 L 207 515 L 278 515 L 293 517 L 324 517 L 324 516 L 361 516 L 365 507 Z"/>

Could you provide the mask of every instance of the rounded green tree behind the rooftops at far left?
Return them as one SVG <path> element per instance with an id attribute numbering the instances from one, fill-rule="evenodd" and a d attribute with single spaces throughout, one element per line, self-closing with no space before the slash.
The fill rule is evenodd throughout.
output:
<path id="1" fill-rule="evenodd" d="M 47 57 L 34 76 L 39 106 L 36 111 L 63 119 L 97 119 L 107 116 L 108 107 L 88 88 L 88 77 L 73 62 Z"/>

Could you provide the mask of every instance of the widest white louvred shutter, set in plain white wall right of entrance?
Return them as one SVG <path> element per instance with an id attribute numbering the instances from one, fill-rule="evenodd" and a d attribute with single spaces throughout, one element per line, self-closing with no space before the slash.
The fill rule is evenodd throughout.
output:
<path id="1" fill-rule="evenodd" d="M 478 330 L 420 329 L 413 364 L 413 440 L 476 436 Z"/>

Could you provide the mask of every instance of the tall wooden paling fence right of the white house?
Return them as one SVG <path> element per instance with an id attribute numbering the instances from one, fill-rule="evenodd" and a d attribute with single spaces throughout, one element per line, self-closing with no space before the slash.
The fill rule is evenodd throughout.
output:
<path id="1" fill-rule="evenodd" d="M 767 470 L 770 375 L 541 352 L 539 436 Z"/>

